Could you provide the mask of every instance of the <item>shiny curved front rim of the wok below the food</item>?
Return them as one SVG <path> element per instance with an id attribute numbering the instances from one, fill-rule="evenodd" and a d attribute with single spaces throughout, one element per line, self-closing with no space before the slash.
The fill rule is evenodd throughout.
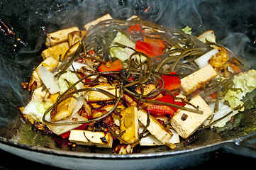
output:
<path id="1" fill-rule="evenodd" d="M 241 147 L 239 145 L 240 142 L 243 142 L 246 139 L 250 139 L 250 137 L 253 137 L 255 135 L 256 135 L 256 132 L 252 132 L 248 135 L 245 135 L 243 137 L 238 137 L 233 140 L 226 140 L 226 141 L 217 142 L 211 145 L 193 147 L 193 148 L 184 149 L 184 150 L 152 152 L 152 153 L 133 153 L 133 154 L 104 154 L 104 153 L 66 151 L 61 149 L 57 150 L 57 149 L 50 149 L 46 147 L 28 145 L 22 142 L 9 140 L 5 137 L 0 137 L 0 143 L 9 147 L 24 149 L 30 152 L 38 152 L 41 154 L 52 154 L 55 156 L 64 156 L 64 157 L 87 158 L 87 159 L 150 159 L 150 158 L 160 158 L 160 157 L 177 157 L 177 156 L 183 156 L 187 154 L 196 154 L 196 153 L 202 154 L 207 152 L 213 152 L 225 147 L 228 147 L 231 150 L 235 150 L 234 146 Z"/>

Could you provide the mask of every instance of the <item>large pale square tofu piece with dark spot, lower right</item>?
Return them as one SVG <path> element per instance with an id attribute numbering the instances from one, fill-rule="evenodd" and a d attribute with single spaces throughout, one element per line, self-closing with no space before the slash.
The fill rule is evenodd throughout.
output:
<path id="1" fill-rule="evenodd" d="M 174 128 L 174 130 L 176 130 L 176 132 L 184 139 L 187 139 L 187 137 L 192 135 L 213 113 L 211 108 L 209 108 L 204 99 L 199 95 L 192 98 L 189 103 L 194 106 L 199 106 L 199 111 L 203 111 L 204 113 L 192 113 L 179 109 L 170 120 L 172 128 Z M 194 108 L 189 104 L 184 107 Z"/>

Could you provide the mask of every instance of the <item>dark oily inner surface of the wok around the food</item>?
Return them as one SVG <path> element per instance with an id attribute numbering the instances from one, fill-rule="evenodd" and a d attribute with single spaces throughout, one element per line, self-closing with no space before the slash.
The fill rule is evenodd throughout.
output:
<path id="1" fill-rule="evenodd" d="M 25 106 L 30 93 L 20 85 L 29 81 L 40 62 L 45 48 L 46 33 L 61 28 L 82 28 L 106 13 L 113 18 L 126 19 L 142 16 L 163 26 L 192 28 L 193 35 L 214 30 L 217 42 L 226 45 L 255 68 L 255 14 L 254 2 L 245 1 L 8 1 L 0 6 L 1 21 L 16 34 L 8 38 L 0 33 L 0 137 L 38 147 L 69 150 L 68 140 L 35 130 L 23 120 L 18 107 Z M 20 38 L 22 41 L 18 40 Z M 26 42 L 23 43 L 23 42 Z M 198 140 L 177 150 L 196 148 L 243 137 L 256 131 L 255 109 L 235 115 L 233 123 L 218 129 L 199 130 Z M 111 154 L 112 149 L 77 147 L 78 152 Z M 135 147 L 135 153 L 171 151 L 168 147 Z M 172 150 L 173 151 L 173 150 Z"/>

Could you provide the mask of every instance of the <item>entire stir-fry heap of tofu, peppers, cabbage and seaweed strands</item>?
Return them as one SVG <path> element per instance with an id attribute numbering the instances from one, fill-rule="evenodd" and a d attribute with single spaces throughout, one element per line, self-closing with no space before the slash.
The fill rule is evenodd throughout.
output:
<path id="1" fill-rule="evenodd" d="M 84 30 L 49 33 L 45 44 L 23 117 L 116 154 L 136 145 L 174 149 L 200 127 L 223 127 L 256 88 L 256 71 L 219 45 L 212 30 L 195 37 L 189 27 L 106 14 Z"/>

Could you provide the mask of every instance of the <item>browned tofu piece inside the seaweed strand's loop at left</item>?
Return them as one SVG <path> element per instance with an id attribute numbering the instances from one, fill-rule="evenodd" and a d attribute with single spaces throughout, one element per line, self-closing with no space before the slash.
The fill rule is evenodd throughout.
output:
<path id="1" fill-rule="evenodd" d="M 69 117 L 72 114 L 76 103 L 77 98 L 74 96 L 71 96 L 67 98 L 65 101 L 59 103 L 57 105 L 57 111 L 52 110 L 52 113 L 50 113 L 50 118 L 52 119 L 52 122 L 56 122 L 58 120 L 62 120 Z"/>

